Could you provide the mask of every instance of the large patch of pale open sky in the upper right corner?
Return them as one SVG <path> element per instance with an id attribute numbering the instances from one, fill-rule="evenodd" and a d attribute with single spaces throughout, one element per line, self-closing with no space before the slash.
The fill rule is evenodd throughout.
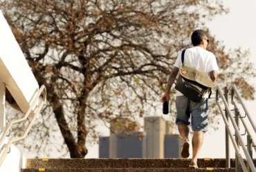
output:
<path id="1" fill-rule="evenodd" d="M 230 12 L 208 23 L 210 31 L 227 47 L 250 49 L 252 61 L 256 63 L 256 1 L 225 0 L 224 2 Z"/>

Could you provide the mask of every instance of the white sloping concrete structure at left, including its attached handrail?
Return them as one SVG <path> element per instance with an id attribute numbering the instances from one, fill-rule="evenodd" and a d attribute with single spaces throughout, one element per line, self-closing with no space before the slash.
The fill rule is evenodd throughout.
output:
<path id="1" fill-rule="evenodd" d="M 18 172 L 24 165 L 22 153 L 13 143 L 24 139 L 33 125 L 36 114 L 46 101 L 46 90 L 39 85 L 31 71 L 24 54 L 12 34 L 10 27 L 0 11 L 0 171 Z M 12 94 L 24 117 L 6 125 L 6 89 Z M 40 94 L 44 100 L 40 101 Z M 8 138 L 7 133 L 12 125 L 30 119 L 30 124 L 18 138 Z M 10 148 L 10 149 L 9 149 Z"/>

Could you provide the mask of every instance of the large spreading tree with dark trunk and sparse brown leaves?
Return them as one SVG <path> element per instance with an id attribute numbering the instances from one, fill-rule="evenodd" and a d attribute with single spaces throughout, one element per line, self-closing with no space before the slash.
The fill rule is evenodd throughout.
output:
<path id="1" fill-rule="evenodd" d="M 0 5 L 39 85 L 48 91 L 48 105 L 30 134 L 37 142 L 24 141 L 24 146 L 47 155 L 52 150 L 46 145 L 56 144 L 63 153 L 51 141 L 58 126 L 71 158 L 84 158 L 89 136 L 98 136 L 99 120 L 108 124 L 120 116 L 152 115 L 192 31 L 207 30 L 205 22 L 227 12 L 210 0 L 8 0 Z M 240 70 L 242 77 L 254 76 L 246 54 L 227 53 L 210 38 L 221 67 L 219 83 L 236 80 L 242 92 L 245 86 L 253 93 L 239 79 Z"/>

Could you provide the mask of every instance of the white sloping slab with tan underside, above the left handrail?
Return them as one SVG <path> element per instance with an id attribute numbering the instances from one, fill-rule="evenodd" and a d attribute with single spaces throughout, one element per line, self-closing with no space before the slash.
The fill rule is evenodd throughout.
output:
<path id="1" fill-rule="evenodd" d="M 38 90 L 37 80 L 2 12 L 0 25 L 0 82 L 6 85 L 21 111 L 26 112 Z"/>

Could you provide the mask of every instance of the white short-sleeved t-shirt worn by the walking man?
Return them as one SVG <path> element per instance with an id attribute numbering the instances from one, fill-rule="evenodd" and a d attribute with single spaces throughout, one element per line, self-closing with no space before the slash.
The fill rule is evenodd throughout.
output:
<path id="1" fill-rule="evenodd" d="M 174 66 L 178 68 L 180 68 L 182 65 L 181 52 L 182 51 L 178 53 L 178 57 L 174 64 Z M 212 70 L 219 72 L 219 67 L 214 54 L 200 46 L 190 47 L 185 50 L 184 65 L 195 67 L 196 69 L 206 73 L 209 73 Z M 183 96 L 181 92 L 177 90 L 176 92 L 176 96 Z M 208 95 L 205 95 L 205 97 L 208 97 Z"/>

